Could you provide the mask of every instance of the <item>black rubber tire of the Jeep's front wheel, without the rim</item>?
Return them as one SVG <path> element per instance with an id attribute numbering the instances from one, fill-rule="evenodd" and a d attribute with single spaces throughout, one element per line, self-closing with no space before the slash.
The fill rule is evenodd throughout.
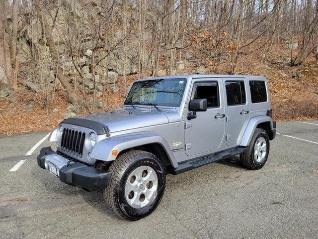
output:
<path id="1" fill-rule="evenodd" d="M 157 173 L 157 195 L 147 206 L 136 209 L 131 207 L 125 198 L 125 183 L 130 172 L 140 166 L 150 166 Z M 165 188 L 165 171 L 159 158 L 149 152 L 133 150 L 125 152 L 111 164 L 112 172 L 109 184 L 104 189 L 106 206 L 121 219 L 136 221 L 150 215 L 159 205 Z"/>

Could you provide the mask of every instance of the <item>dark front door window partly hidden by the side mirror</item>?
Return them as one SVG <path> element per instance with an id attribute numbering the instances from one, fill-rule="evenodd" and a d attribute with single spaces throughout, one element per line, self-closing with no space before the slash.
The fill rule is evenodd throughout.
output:
<path id="1" fill-rule="evenodd" d="M 207 107 L 219 107 L 219 87 L 217 82 L 201 82 L 194 84 L 192 99 L 207 99 Z"/>

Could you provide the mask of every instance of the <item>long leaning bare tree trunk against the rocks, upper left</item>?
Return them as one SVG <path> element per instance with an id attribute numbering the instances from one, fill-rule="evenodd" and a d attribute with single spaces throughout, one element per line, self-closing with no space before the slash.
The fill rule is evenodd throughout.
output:
<path id="1" fill-rule="evenodd" d="M 45 38 L 49 45 L 50 54 L 52 57 L 52 61 L 56 64 L 54 67 L 54 74 L 57 76 L 57 78 L 60 80 L 63 88 L 66 90 L 66 93 L 68 95 L 68 98 L 70 99 L 71 103 L 73 105 L 79 105 L 79 97 L 76 95 L 76 93 L 72 90 L 72 86 L 69 83 L 68 79 L 63 74 L 63 69 L 60 65 L 60 59 L 59 59 L 59 53 L 57 49 L 55 48 L 55 43 L 53 41 L 52 33 L 50 30 L 50 26 L 47 24 L 45 16 L 42 14 L 41 9 L 39 6 L 36 6 L 37 14 L 39 21 L 41 25 L 44 27 L 43 32 L 45 35 Z"/>

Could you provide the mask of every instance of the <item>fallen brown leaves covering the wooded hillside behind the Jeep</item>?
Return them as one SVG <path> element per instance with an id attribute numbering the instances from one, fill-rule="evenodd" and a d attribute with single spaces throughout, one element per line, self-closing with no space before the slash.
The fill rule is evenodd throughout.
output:
<path id="1" fill-rule="evenodd" d="M 226 73 L 229 69 L 226 64 L 223 64 L 222 67 L 218 69 L 218 73 Z M 267 77 L 274 119 L 318 119 L 318 98 L 316 97 L 318 95 L 318 67 L 316 61 L 312 59 L 301 67 L 278 68 L 275 65 L 268 65 L 254 58 L 246 57 L 240 60 L 238 72 L 239 74 Z M 212 68 L 207 70 L 207 74 L 215 74 Z M 128 76 L 126 86 L 137 78 L 139 78 L 137 75 Z M 117 84 L 122 86 L 122 79 Z M 122 105 L 125 88 L 119 87 L 119 89 L 117 94 L 108 93 L 105 98 L 104 104 L 107 105 L 107 110 L 116 109 Z M 9 103 L 9 99 L 13 97 L 16 101 Z M 19 88 L 13 95 L 0 98 L 0 135 L 51 130 L 64 119 L 64 113 L 69 104 L 65 92 L 56 92 L 49 112 L 39 106 L 34 97 L 34 93 Z M 96 99 L 96 101 L 101 100 L 101 97 Z M 34 109 L 25 110 L 24 107 L 30 104 L 34 105 Z M 96 111 L 102 110 L 97 109 Z M 83 114 L 87 113 L 82 112 L 79 115 Z"/>

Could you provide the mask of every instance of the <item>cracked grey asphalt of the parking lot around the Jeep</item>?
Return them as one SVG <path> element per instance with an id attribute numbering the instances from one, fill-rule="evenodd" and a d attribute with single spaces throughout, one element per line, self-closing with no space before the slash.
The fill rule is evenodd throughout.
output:
<path id="1" fill-rule="evenodd" d="M 159 207 L 137 222 L 118 219 L 101 191 L 39 168 L 47 140 L 25 156 L 48 132 L 0 137 L 0 238 L 317 238 L 318 121 L 278 122 L 277 132 L 260 170 L 235 157 L 167 175 Z"/>

